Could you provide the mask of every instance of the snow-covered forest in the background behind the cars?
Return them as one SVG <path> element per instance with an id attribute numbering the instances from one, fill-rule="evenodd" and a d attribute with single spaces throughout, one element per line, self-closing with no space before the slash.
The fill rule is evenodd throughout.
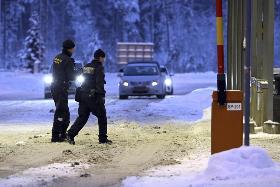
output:
<path id="1" fill-rule="evenodd" d="M 48 69 L 62 42 L 85 64 L 96 49 L 118 71 L 117 42 L 153 42 L 154 60 L 172 72 L 217 71 L 215 0 L 0 0 L 0 68 Z M 227 1 L 223 0 L 224 50 Z M 274 67 L 280 66 L 280 2 L 275 1 Z M 226 62 L 226 53 L 225 53 Z"/>

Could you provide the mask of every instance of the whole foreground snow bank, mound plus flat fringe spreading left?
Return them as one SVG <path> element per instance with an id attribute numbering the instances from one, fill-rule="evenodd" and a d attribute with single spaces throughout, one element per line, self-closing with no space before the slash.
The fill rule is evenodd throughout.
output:
<path id="1" fill-rule="evenodd" d="M 122 181 L 125 187 L 278 187 L 280 164 L 270 159 L 258 146 L 241 146 L 207 157 L 183 160 L 181 165 L 152 169 L 146 176 L 131 176 Z M 201 167 L 206 167 L 203 171 Z M 196 174 L 200 172 L 199 174 Z"/>

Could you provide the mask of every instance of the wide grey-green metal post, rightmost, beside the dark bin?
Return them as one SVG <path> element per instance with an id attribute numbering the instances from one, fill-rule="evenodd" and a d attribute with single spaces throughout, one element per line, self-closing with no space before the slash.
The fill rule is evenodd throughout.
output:
<path id="1" fill-rule="evenodd" d="M 263 79 L 267 79 L 267 120 L 273 117 L 274 0 L 263 2 Z"/>

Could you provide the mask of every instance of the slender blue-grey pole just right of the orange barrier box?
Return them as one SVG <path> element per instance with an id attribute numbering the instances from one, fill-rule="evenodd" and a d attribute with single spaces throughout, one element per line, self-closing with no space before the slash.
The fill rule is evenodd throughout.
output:
<path id="1" fill-rule="evenodd" d="M 244 145 L 249 146 L 249 122 L 250 122 L 250 52 L 251 52 L 251 0 L 246 0 L 246 64 L 245 70 L 245 129 Z"/>

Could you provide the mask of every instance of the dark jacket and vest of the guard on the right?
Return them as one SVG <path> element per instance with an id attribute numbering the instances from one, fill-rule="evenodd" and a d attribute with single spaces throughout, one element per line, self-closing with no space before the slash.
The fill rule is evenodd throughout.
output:
<path id="1" fill-rule="evenodd" d="M 105 97 L 105 71 L 99 60 L 93 59 L 91 63 L 88 63 L 83 67 L 83 78 L 83 89 L 97 89 L 97 94 Z"/>

